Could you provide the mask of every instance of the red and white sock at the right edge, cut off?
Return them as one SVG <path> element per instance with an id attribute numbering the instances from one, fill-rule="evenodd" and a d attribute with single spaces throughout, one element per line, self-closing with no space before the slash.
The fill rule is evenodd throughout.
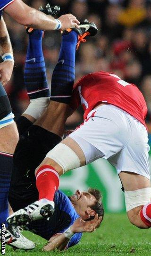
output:
<path id="1" fill-rule="evenodd" d="M 151 227 L 151 203 L 147 203 L 142 207 L 140 217 L 143 223 Z"/>

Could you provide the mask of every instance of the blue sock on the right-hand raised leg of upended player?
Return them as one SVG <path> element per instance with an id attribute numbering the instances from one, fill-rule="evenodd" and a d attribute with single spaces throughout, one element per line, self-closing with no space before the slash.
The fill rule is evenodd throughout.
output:
<path id="1" fill-rule="evenodd" d="M 71 31 L 62 35 L 58 63 L 53 71 L 51 80 L 50 99 L 70 104 L 75 80 L 75 55 L 78 34 Z"/>

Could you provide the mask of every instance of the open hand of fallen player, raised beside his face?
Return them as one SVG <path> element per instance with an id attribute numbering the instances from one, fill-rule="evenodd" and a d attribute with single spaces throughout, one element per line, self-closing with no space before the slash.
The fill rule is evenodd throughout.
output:
<path id="1" fill-rule="evenodd" d="M 92 221 L 84 221 L 81 218 L 76 219 L 76 221 L 71 225 L 70 229 L 73 233 L 81 232 L 93 232 L 101 223 L 102 217 L 95 215 Z"/>

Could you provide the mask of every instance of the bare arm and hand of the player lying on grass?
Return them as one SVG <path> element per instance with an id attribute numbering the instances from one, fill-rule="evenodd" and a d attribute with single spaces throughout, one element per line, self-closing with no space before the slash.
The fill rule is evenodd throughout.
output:
<path id="1" fill-rule="evenodd" d="M 93 232 L 100 225 L 101 219 L 102 217 L 98 217 L 98 214 L 95 215 L 95 218 L 92 221 L 84 221 L 82 218 L 76 219 L 67 231 L 61 235 L 56 234 L 50 238 L 48 243 L 43 247 L 43 251 L 51 251 L 54 249 L 64 250 L 70 239 L 69 237 L 67 238 L 67 236 L 72 237 L 75 233 L 81 232 Z M 66 232 L 69 235 L 66 235 Z"/>

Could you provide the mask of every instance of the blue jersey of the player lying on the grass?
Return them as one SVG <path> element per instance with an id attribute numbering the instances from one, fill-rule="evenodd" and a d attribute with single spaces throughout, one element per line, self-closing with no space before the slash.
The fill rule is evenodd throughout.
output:
<path id="1" fill-rule="evenodd" d="M 67 195 L 57 190 L 54 196 L 55 211 L 49 221 L 44 219 L 32 221 L 29 223 L 27 230 L 49 240 L 57 233 L 63 233 L 79 217 L 74 206 Z M 76 245 L 82 237 L 82 233 L 76 233 L 68 242 L 67 247 Z"/>

